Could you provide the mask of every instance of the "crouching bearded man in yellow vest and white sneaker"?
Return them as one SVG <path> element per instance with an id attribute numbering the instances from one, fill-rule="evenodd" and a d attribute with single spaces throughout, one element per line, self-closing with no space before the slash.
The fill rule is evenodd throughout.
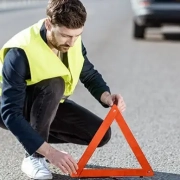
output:
<path id="1" fill-rule="evenodd" d="M 78 80 L 103 107 L 123 98 L 111 94 L 86 56 L 81 40 L 86 10 L 79 0 L 50 0 L 47 18 L 11 38 L 1 49 L 0 124 L 23 145 L 21 169 L 30 178 L 52 179 L 46 159 L 63 173 L 76 173 L 76 161 L 51 143 L 88 145 L 102 123 L 92 112 L 68 100 Z M 98 147 L 111 138 L 111 128 Z"/>

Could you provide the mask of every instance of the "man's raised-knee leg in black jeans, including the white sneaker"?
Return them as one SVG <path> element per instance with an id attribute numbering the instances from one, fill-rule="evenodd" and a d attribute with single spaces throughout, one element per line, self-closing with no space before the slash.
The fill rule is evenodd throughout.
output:
<path id="1" fill-rule="evenodd" d="M 44 80 L 27 88 L 25 118 L 45 141 L 48 141 L 50 126 L 64 94 L 64 89 L 62 78 Z M 52 179 L 45 158 L 38 153 L 34 153 L 32 156 L 26 154 L 21 169 L 30 178 Z"/>

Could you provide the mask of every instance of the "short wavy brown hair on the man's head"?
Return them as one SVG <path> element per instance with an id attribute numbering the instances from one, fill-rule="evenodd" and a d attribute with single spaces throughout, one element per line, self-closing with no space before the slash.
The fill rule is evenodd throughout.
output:
<path id="1" fill-rule="evenodd" d="M 86 21 L 86 9 L 79 0 L 49 0 L 46 14 L 51 23 L 65 26 L 69 29 L 78 29 Z"/>

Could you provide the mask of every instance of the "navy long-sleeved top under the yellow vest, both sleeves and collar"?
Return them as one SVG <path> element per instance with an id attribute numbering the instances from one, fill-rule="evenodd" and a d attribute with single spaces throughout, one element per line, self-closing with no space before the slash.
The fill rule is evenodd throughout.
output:
<path id="1" fill-rule="evenodd" d="M 41 37 L 47 43 L 46 29 L 41 28 Z M 80 74 L 80 81 L 100 101 L 103 92 L 110 92 L 109 87 L 100 73 L 94 69 L 87 58 L 86 48 L 82 43 L 84 65 Z M 25 52 L 12 48 L 5 56 L 2 69 L 3 87 L 1 98 L 1 117 L 5 126 L 15 135 L 25 150 L 31 155 L 44 143 L 44 139 L 36 132 L 23 116 L 26 95 L 26 80 L 30 79 L 30 68 Z"/>

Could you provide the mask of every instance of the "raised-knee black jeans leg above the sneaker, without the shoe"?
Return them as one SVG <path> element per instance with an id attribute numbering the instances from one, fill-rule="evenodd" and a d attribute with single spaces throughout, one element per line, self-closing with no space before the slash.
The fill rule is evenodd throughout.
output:
<path id="1" fill-rule="evenodd" d="M 64 89 L 62 78 L 44 80 L 27 89 L 25 117 L 45 141 L 48 141 L 50 126 L 64 94 Z M 38 153 L 33 156 L 42 157 Z"/>

